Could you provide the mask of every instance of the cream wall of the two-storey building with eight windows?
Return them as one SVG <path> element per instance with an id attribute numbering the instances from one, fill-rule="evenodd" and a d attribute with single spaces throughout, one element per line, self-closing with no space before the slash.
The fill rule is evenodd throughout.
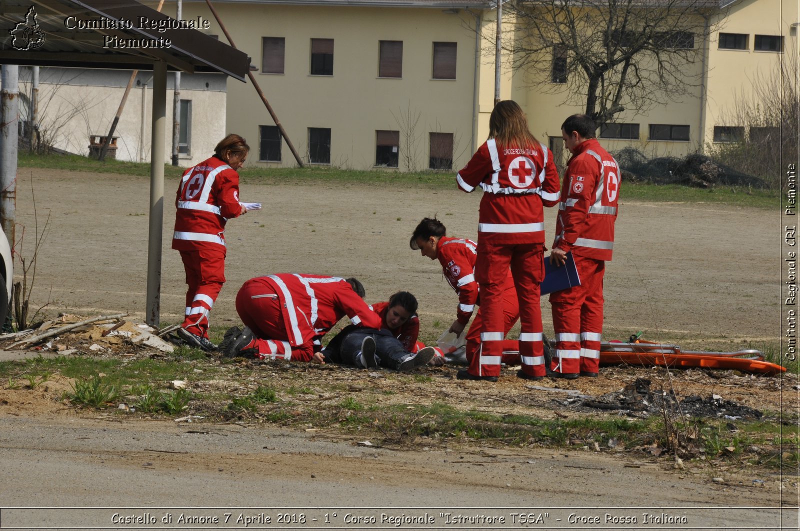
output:
<path id="1" fill-rule="evenodd" d="M 330 128 L 330 165 L 369 170 L 375 166 L 376 130 L 400 132 L 399 170 L 429 164 L 429 134 L 454 134 L 454 167 L 472 154 L 475 71 L 474 17 L 460 10 L 357 6 L 215 6 L 236 46 L 252 58 L 255 78 L 304 162 L 308 128 Z M 205 4 L 184 3 L 183 18 Z M 222 35 L 212 18 L 211 33 Z M 264 74 L 262 38 L 285 38 L 284 74 Z M 224 38 L 224 37 L 223 37 Z M 332 76 L 310 74 L 310 40 L 334 39 Z M 402 41 L 402 78 L 378 78 L 379 41 Z M 457 42 L 455 80 L 432 79 L 433 42 Z M 227 130 L 247 138 L 258 162 L 258 126 L 273 126 L 250 82 L 228 82 Z M 407 122 L 416 122 L 408 126 Z M 405 125 L 404 125 L 405 124 Z M 410 155 L 411 162 L 406 160 Z M 279 166 L 294 166 L 285 145 Z"/>

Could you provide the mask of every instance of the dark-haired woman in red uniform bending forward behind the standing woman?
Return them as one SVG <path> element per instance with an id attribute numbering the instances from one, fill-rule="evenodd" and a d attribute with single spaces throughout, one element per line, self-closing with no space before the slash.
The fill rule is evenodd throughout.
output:
<path id="1" fill-rule="evenodd" d="M 425 218 L 414 229 L 409 245 L 413 250 L 419 250 L 422 256 L 431 260 L 438 259 L 442 264 L 447 282 L 456 293 L 458 293 L 458 309 L 456 319 L 450 325 L 448 332 L 454 332 L 461 336 L 466 323 L 470 321 L 475 305 L 478 305 L 478 282 L 475 281 L 474 269 L 475 258 L 477 257 L 477 244 L 472 240 L 460 238 L 448 238 L 446 228 L 436 218 Z M 503 286 L 502 313 L 503 313 L 503 336 L 509 333 L 511 327 L 519 319 L 519 307 L 517 301 L 517 291 L 514 289 L 514 279 L 509 271 L 506 275 L 506 283 Z M 497 365 L 500 370 L 501 361 L 506 364 L 519 363 L 519 350 L 517 341 L 502 341 L 502 360 L 499 357 L 485 359 L 480 354 L 481 345 L 482 315 L 478 308 L 470 329 L 466 333 L 466 359 L 470 363 L 470 373 L 482 375 L 486 371 L 494 372 Z M 466 371 L 459 371 L 460 374 Z M 463 377 L 463 376 L 462 376 Z M 495 376 L 496 380 L 497 377 Z"/>

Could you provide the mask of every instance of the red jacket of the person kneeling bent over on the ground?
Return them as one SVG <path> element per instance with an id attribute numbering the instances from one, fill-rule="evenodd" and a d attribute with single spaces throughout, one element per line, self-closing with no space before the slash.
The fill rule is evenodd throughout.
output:
<path id="1" fill-rule="evenodd" d="M 293 347 L 314 342 L 345 315 L 354 325 L 381 328 L 381 317 L 340 277 L 276 273 L 258 277 L 278 294 L 286 335 Z"/>

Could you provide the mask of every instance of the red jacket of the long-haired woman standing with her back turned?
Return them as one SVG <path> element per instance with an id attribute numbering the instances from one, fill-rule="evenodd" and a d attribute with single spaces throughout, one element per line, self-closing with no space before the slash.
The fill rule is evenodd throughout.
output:
<path id="1" fill-rule="evenodd" d="M 542 204 L 558 203 L 558 171 L 544 144 L 525 149 L 483 143 L 456 176 L 458 187 L 483 189 L 478 242 L 494 245 L 543 243 Z"/>

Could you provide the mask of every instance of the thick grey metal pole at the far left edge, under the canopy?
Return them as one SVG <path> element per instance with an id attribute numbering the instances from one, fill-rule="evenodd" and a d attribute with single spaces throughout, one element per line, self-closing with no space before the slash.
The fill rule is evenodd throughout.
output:
<path id="1" fill-rule="evenodd" d="M 19 66 L 2 66 L 0 109 L 0 222 L 10 248 L 14 249 L 17 221 L 17 143 L 19 136 Z M 10 293 L 9 293 L 10 295 Z"/>

